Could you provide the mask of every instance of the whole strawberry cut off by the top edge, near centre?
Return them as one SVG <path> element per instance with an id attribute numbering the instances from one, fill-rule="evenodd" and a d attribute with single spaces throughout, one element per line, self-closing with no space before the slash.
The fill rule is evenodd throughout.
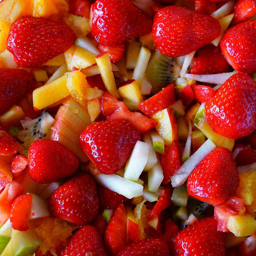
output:
<path id="1" fill-rule="evenodd" d="M 129 0 L 97 0 L 91 16 L 91 33 L 103 45 L 124 44 L 148 34 L 152 27 L 152 20 Z"/>

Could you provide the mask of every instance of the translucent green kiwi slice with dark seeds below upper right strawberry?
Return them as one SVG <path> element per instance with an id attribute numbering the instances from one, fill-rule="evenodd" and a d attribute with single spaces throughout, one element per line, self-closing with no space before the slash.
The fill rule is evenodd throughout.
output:
<path id="1" fill-rule="evenodd" d="M 173 58 L 155 51 L 149 60 L 146 76 L 152 85 L 152 93 L 162 90 L 179 77 L 180 68 Z"/>

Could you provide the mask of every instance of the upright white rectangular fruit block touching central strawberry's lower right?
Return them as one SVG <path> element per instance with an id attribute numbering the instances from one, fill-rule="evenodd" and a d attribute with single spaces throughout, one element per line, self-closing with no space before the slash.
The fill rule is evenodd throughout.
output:
<path id="1" fill-rule="evenodd" d="M 126 165 L 126 169 L 124 171 L 124 178 L 132 181 L 137 181 L 148 161 L 148 155 L 148 143 L 138 140 L 132 150 L 131 157 Z"/>

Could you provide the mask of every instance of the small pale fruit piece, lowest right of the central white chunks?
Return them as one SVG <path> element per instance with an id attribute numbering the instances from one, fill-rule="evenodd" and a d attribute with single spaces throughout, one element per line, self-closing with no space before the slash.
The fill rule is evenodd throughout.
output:
<path id="1" fill-rule="evenodd" d="M 164 179 L 163 169 L 159 162 L 148 171 L 148 191 L 156 192 Z"/>

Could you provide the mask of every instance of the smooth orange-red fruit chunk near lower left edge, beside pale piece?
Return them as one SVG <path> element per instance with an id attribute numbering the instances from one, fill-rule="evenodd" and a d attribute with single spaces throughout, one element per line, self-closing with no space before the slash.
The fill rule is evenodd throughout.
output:
<path id="1" fill-rule="evenodd" d="M 10 221 L 14 229 L 26 231 L 29 229 L 28 219 L 31 212 L 32 194 L 21 195 L 12 203 Z"/>

